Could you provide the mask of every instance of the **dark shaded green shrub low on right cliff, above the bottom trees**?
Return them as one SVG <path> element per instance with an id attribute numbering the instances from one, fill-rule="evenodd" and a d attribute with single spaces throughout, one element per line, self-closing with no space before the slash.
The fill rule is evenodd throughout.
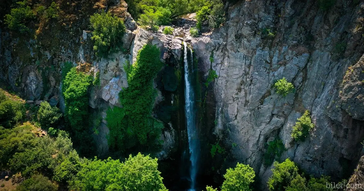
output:
<path id="1" fill-rule="evenodd" d="M 264 164 L 268 166 L 273 163 L 274 159 L 280 158 L 282 152 L 285 150 L 284 144 L 281 139 L 275 138 L 268 143 L 268 148 L 264 153 Z"/>

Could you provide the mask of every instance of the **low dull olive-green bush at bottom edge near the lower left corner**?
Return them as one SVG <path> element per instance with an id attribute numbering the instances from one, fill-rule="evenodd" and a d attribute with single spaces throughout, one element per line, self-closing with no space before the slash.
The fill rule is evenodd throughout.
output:
<path id="1" fill-rule="evenodd" d="M 16 191 L 57 191 L 58 187 L 52 184 L 47 177 L 43 175 L 33 175 L 31 178 L 24 180 Z"/>

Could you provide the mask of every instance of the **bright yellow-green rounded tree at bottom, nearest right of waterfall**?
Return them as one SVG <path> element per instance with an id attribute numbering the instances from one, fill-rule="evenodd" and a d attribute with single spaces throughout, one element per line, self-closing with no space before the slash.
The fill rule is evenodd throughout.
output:
<path id="1" fill-rule="evenodd" d="M 224 175 L 222 191 L 251 191 L 250 184 L 254 182 L 255 172 L 252 167 L 238 163 L 234 169 L 229 168 Z"/>

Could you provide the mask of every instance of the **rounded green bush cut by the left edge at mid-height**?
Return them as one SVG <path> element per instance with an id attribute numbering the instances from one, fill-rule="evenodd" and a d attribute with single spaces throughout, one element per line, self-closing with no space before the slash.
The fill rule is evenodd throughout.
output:
<path id="1" fill-rule="evenodd" d="M 22 120 L 24 114 L 24 104 L 7 98 L 4 91 L 0 89 L 0 125 L 10 128 Z"/>

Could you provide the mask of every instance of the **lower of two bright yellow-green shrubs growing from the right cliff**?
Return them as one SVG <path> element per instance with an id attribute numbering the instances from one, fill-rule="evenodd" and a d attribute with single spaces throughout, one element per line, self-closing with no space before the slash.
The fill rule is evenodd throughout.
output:
<path id="1" fill-rule="evenodd" d="M 304 141 L 308 136 L 310 130 L 314 128 L 314 124 L 311 122 L 310 112 L 308 110 L 297 119 L 296 125 L 292 127 L 292 138 L 300 141 Z"/>

